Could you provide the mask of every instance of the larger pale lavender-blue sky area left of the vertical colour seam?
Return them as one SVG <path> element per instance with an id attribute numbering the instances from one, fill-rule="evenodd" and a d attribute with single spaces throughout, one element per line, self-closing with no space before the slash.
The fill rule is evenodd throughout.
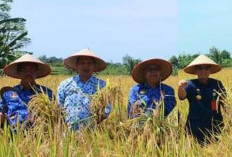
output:
<path id="1" fill-rule="evenodd" d="M 67 57 L 90 48 L 106 61 L 168 59 L 178 52 L 177 0 L 15 0 L 36 56 Z"/>

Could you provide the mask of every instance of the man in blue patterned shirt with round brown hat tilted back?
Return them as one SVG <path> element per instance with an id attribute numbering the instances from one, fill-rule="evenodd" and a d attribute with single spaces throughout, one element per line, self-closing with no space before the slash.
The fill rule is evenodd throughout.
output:
<path id="1" fill-rule="evenodd" d="M 172 87 L 163 84 L 172 73 L 172 64 L 162 59 L 149 59 L 135 66 L 132 77 L 138 84 L 130 90 L 127 113 L 135 118 L 142 112 L 151 113 L 164 103 L 164 116 L 176 105 Z"/>

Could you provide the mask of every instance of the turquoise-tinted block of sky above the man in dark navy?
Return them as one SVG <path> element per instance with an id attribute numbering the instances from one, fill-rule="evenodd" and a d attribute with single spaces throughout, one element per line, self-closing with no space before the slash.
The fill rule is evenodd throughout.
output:
<path id="1" fill-rule="evenodd" d="M 179 0 L 178 52 L 208 53 L 212 46 L 232 53 L 232 1 Z"/>

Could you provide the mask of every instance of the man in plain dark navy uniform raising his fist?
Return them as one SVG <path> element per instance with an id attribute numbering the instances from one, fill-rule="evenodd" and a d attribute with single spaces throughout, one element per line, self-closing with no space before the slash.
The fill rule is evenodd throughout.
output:
<path id="1" fill-rule="evenodd" d="M 210 74 L 220 70 L 220 65 L 200 55 L 184 68 L 186 73 L 197 75 L 197 79 L 179 82 L 179 99 L 187 98 L 189 102 L 186 131 L 201 144 L 210 142 L 212 134 L 219 134 L 224 126 L 221 106 L 226 91 L 221 81 L 209 78 Z"/>

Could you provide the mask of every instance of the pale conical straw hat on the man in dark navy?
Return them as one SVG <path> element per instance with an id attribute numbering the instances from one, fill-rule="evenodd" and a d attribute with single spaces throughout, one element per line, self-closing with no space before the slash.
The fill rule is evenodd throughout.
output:
<path id="1" fill-rule="evenodd" d="M 188 66 L 184 68 L 184 71 L 189 74 L 196 74 L 196 66 L 197 65 L 210 65 L 210 73 L 219 72 L 222 68 L 220 65 L 215 63 L 209 57 L 205 55 L 199 55 L 196 59 L 194 59 Z"/>

